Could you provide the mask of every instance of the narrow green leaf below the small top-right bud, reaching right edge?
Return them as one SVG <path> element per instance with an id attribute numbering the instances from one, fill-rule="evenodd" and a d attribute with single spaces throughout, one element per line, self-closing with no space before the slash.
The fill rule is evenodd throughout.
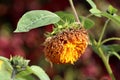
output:
<path id="1" fill-rule="evenodd" d="M 117 15 L 113 16 L 113 15 L 110 15 L 110 14 L 108 14 L 106 12 L 102 12 L 101 15 L 111 19 L 113 22 L 115 22 L 116 24 L 120 25 L 120 16 L 117 16 Z"/>

